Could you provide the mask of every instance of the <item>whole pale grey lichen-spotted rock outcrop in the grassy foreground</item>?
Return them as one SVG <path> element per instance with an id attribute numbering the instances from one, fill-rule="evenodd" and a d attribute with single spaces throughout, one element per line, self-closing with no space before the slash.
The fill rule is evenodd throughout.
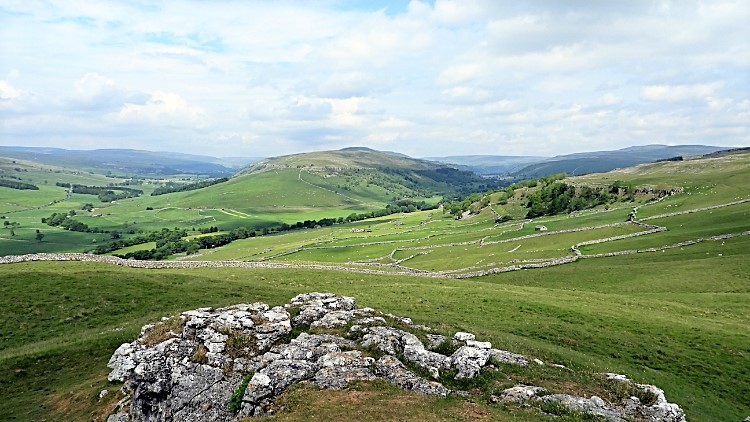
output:
<path id="1" fill-rule="evenodd" d="M 468 396 L 437 380 L 472 378 L 503 364 L 529 363 L 525 356 L 494 349 L 473 334 L 433 334 L 409 318 L 356 309 L 354 298 L 329 293 L 300 294 L 273 308 L 264 303 L 199 308 L 144 326 L 136 341 L 115 351 L 108 364 L 109 380 L 124 382 L 126 397 L 108 422 L 261 416 L 287 387 L 300 382 L 344 389 L 353 381 L 384 379 L 423 394 Z M 610 377 L 630 383 L 623 376 Z M 685 420 L 663 391 L 634 385 L 654 400 L 641 403 L 631 397 L 607 403 L 596 396 L 515 386 L 493 401 L 553 403 L 611 421 Z"/>

